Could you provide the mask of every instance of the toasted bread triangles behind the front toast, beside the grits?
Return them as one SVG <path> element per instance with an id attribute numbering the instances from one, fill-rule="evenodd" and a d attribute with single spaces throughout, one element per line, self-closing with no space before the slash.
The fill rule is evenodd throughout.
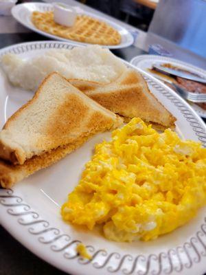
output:
<path id="1" fill-rule="evenodd" d="M 78 79 L 68 81 L 106 109 L 122 115 L 126 122 L 139 117 L 159 128 L 175 126 L 176 118 L 153 96 L 144 78 L 133 69 L 127 69 L 106 85 Z"/>

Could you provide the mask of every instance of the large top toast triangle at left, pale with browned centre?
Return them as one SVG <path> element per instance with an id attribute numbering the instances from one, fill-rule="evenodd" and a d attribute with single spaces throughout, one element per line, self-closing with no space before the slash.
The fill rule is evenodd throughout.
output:
<path id="1" fill-rule="evenodd" d="M 54 72 L 43 80 L 32 100 L 3 126 L 0 157 L 13 164 L 23 164 L 34 155 L 113 129 L 121 123 L 122 118 Z"/>

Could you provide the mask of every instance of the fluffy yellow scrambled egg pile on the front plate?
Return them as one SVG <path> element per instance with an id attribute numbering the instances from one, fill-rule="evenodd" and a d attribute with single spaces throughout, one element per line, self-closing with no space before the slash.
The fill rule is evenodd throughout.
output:
<path id="1" fill-rule="evenodd" d="M 148 241 L 183 225 L 206 204 L 206 148 L 170 129 L 157 133 L 139 118 L 113 131 L 68 201 L 65 221 L 102 225 L 113 241 Z"/>

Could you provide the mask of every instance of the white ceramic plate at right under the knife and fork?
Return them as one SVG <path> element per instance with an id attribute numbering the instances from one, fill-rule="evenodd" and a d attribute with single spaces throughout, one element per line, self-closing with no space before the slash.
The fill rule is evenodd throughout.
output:
<path id="1" fill-rule="evenodd" d="M 152 67 L 152 64 L 157 63 L 157 64 L 163 64 L 163 63 L 170 63 L 174 66 L 181 67 L 183 69 L 190 70 L 192 73 L 197 73 L 203 78 L 206 78 L 206 71 L 204 69 L 195 67 L 191 64 L 185 63 L 183 61 L 179 61 L 174 58 L 170 57 L 165 57 L 165 56 L 155 56 L 155 55 L 142 55 L 142 56 L 135 56 L 131 61 L 131 64 L 135 65 L 139 69 L 143 69 L 145 72 L 148 72 L 148 68 Z M 149 74 L 152 74 L 149 72 Z M 155 74 L 152 74 L 152 76 L 155 76 Z M 206 110 L 203 108 L 199 107 L 197 104 L 194 104 L 190 102 L 190 105 L 192 108 L 200 115 L 202 118 L 206 118 Z"/>

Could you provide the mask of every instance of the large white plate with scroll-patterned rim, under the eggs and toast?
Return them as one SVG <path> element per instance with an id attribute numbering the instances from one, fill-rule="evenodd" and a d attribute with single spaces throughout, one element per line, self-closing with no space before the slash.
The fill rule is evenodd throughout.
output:
<path id="1" fill-rule="evenodd" d="M 13 52 L 31 58 L 49 48 L 60 47 L 71 49 L 72 46 L 54 41 L 24 43 L 4 48 L 0 56 Z M 149 74 L 142 74 L 152 93 L 176 116 L 179 135 L 206 145 L 205 124 L 194 110 L 172 89 Z M 33 94 L 12 87 L 2 71 L 0 86 L 1 127 Z M 65 159 L 21 181 L 12 190 L 0 189 L 1 224 L 34 254 L 69 274 L 165 275 L 181 272 L 202 275 L 206 271 L 205 208 L 183 227 L 149 242 L 115 243 L 97 232 L 76 230 L 62 221 L 60 206 L 78 184 L 94 144 L 110 136 L 111 133 L 96 135 Z M 87 245 L 93 255 L 92 261 L 76 254 L 78 242 Z"/>

